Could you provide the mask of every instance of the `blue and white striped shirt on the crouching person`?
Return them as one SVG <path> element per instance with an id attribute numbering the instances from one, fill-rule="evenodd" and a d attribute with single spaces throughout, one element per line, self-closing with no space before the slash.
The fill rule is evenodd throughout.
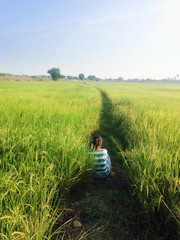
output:
<path id="1" fill-rule="evenodd" d="M 95 173 L 94 177 L 104 178 L 110 173 L 110 166 L 108 164 L 109 155 L 107 149 L 102 149 L 101 151 L 89 151 L 89 154 L 93 154 L 95 157 Z"/>

